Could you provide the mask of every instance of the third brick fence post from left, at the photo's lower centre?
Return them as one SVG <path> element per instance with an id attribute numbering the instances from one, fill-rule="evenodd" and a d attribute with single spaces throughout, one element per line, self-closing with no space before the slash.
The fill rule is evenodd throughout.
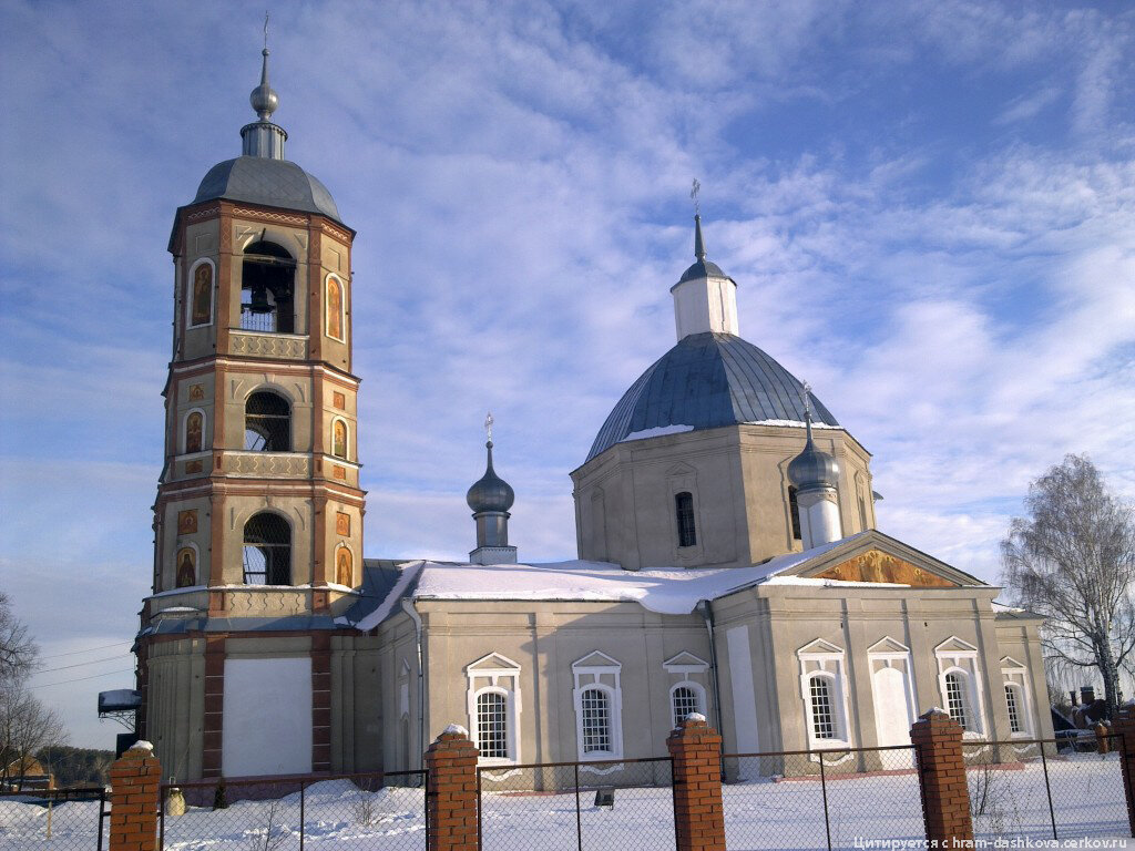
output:
<path id="1" fill-rule="evenodd" d="M 671 732 L 678 851 L 725 851 L 721 802 L 721 735 L 692 713 Z"/>

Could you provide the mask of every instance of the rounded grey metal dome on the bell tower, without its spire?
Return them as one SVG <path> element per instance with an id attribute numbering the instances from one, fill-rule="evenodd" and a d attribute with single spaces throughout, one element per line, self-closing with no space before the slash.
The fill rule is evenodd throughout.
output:
<path id="1" fill-rule="evenodd" d="M 204 176 L 193 203 L 215 199 L 283 207 L 342 221 L 327 187 L 291 160 L 237 157 L 218 162 Z"/>

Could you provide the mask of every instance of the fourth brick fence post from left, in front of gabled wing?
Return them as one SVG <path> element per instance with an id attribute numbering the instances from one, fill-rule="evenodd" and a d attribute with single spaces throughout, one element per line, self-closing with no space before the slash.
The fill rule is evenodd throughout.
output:
<path id="1" fill-rule="evenodd" d="M 910 727 L 931 848 L 972 846 L 974 840 L 961 732 L 961 725 L 941 709 L 931 709 Z"/>

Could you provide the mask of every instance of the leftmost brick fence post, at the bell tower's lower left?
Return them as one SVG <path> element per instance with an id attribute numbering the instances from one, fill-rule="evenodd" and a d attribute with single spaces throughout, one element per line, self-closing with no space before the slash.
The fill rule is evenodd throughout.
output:
<path id="1" fill-rule="evenodd" d="M 109 851 L 155 851 L 161 764 L 137 742 L 110 766 Z"/>

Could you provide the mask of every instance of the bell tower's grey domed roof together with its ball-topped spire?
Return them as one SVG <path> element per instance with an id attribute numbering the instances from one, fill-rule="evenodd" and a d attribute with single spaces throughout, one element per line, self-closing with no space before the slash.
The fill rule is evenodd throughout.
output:
<path id="1" fill-rule="evenodd" d="M 284 159 L 287 133 L 270 119 L 279 95 L 268 83 L 268 48 L 262 51 L 260 85 L 249 102 L 257 120 L 241 128 L 241 157 L 218 162 L 201 180 L 194 204 L 225 199 L 318 213 L 342 221 L 338 207 L 319 180 Z"/>

